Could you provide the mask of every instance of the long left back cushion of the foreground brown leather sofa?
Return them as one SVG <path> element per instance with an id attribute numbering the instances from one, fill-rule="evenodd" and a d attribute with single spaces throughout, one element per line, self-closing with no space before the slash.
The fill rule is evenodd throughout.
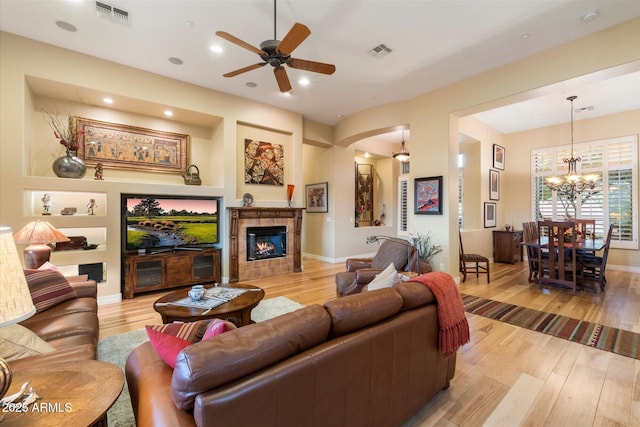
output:
<path id="1" fill-rule="evenodd" d="M 193 344 L 176 360 L 173 401 L 191 410 L 198 394 L 312 348 L 330 328 L 329 314 L 313 305 Z"/>

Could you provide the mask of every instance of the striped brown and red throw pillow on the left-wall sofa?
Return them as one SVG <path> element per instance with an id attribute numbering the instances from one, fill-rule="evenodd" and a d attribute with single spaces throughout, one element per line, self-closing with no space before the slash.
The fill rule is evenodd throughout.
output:
<path id="1" fill-rule="evenodd" d="M 25 277 L 36 306 L 36 313 L 77 298 L 76 291 L 67 278 L 55 270 L 25 270 Z"/>

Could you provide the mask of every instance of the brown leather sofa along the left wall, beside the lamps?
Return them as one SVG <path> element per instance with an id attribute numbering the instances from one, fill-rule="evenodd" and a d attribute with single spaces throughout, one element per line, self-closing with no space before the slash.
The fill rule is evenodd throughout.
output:
<path id="1" fill-rule="evenodd" d="M 47 341 L 55 351 L 12 360 L 9 362 L 11 369 L 97 358 L 100 333 L 97 284 L 94 280 L 87 280 L 70 282 L 70 285 L 75 289 L 77 298 L 63 301 L 20 323 Z"/>

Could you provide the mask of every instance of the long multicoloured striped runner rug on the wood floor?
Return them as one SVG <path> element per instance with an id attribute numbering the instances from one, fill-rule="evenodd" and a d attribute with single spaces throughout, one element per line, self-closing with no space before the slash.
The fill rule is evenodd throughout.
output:
<path id="1" fill-rule="evenodd" d="M 640 334 L 635 332 L 473 295 L 462 294 L 462 302 L 467 313 L 640 359 Z"/>

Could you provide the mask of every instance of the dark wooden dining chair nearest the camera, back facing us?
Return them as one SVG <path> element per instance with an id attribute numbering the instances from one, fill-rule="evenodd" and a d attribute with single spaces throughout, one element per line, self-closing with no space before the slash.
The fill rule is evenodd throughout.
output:
<path id="1" fill-rule="evenodd" d="M 582 264 L 576 251 L 575 225 L 571 221 L 539 221 L 538 244 L 547 238 L 547 257 L 538 251 L 538 284 L 571 289 L 575 295 L 578 279 L 582 280 Z"/>

